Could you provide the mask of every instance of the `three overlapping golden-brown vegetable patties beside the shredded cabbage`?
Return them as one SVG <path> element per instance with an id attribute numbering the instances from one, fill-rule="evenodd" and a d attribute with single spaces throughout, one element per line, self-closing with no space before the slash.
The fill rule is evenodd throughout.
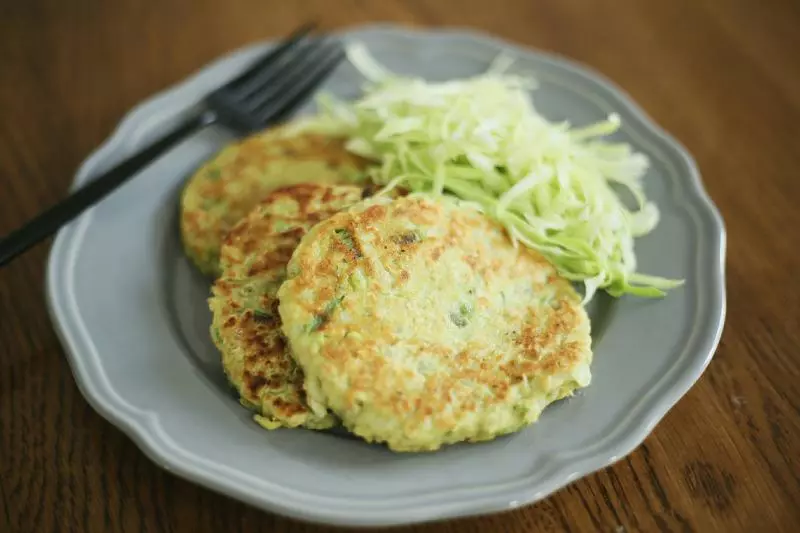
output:
<path id="1" fill-rule="evenodd" d="M 589 384 L 589 319 L 540 254 L 450 196 L 375 195 L 342 139 L 277 128 L 189 181 L 187 255 L 262 426 L 396 451 L 489 440 Z"/>

